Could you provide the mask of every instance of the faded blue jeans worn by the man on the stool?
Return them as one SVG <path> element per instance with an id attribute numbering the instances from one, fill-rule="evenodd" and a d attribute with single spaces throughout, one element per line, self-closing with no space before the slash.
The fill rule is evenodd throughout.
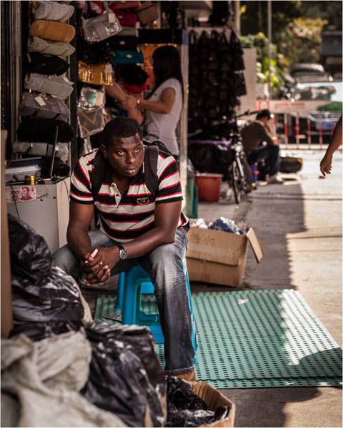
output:
<path id="1" fill-rule="evenodd" d="M 116 245 L 114 240 L 99 230 L 91 230 L 89 238 L 92 250 Z M 111 275 L 116 275 L 134 265 L 141 265 L 150 273 L 164 334 L 167 374 L 188 372 L 194 367 L 192 320 L 183 267 L 187 248 L 187 232 L 184 228 L 178 228 L 174 243 L 161 245 L 139 258 L 120 260 L 111 270 Z M 71 252 L 69 245 L 64 245 L 54 253 L 54 264 L 76 280 L 81 277 L 79 259 Z"/>

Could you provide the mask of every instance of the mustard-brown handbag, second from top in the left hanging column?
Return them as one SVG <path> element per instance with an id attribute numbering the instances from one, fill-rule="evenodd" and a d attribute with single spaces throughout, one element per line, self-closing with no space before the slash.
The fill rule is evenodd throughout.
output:
<path id="1" fill-rule="evenodd" d="M 74 39 L 75 29 L 73 26 L 62 22 L 37 19 L 30 25 L 30 36 L 70 43 Z"/>

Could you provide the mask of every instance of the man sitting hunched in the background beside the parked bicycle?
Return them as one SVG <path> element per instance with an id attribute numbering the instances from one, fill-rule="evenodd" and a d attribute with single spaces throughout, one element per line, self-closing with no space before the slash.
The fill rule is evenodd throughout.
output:
<path id="1" fill-rule="evenodd" d="M 279 177 L 279 146 L 274 143 L 272 131 L 268 124 L 271 118 L 272 115 L 269 110 L 259 111 L 256 121 L 249 123 L 242 129 L 242 141 L 250 164 L 265 161 L 267 183 L 281 184 L 284 180 Z M 267 146 L 263 146 L 263 143 L 267 143 Z"/>

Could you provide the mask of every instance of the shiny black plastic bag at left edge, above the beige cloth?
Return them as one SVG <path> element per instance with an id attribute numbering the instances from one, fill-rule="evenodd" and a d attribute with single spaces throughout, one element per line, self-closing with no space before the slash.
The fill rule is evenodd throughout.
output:
<path id="1" fill-rule="evenodd" d="M 28 225 L 9 215 L 14 329 L 31 340 L 79 330 L 84 308 L 74 279 L 52 266 L 49 248 Z"/>

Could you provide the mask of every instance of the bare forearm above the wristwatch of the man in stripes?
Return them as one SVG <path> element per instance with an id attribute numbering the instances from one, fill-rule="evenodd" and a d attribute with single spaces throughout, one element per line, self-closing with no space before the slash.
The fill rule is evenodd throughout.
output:
<path id="1" fill-rule="evenodd" d="M 174 243 L 174 239 L 175 231 L 173 232 L 172 230 L 156 227 L 144 233 L 144 235 L 139 236 L 139 238 L 131 240 L 129 243 L 123 245 L 129 258 L 136 258 L 150 253 L 160 245 Z"/>

